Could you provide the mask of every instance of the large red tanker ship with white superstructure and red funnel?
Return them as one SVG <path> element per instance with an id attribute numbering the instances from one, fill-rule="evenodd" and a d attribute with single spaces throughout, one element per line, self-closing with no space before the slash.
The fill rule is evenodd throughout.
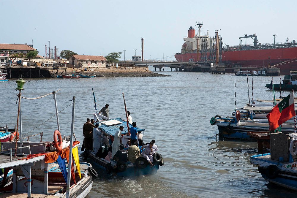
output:
<path id="1" fill-rule="evenodd" d="M 201 28 L 201 24 L 199 28 Z M 258 43 L 256 34 L 245 35 L 242 38 L 252 38 L 254 45 L 220 46 L 219 59 L 225 65 L 252 65 L 280 68 L 280 74 L 288 74 L 290 71 L 297 70 L 297 43 L 292 42 L 262 44 Z M 188 30 L 188 37 L 184 37 L 185 43 L 182 45 L 181 53 L 176 53 L 175 58 L 178 62 L 215 62 L 216 38 L 207 35 L 195 35 L 195 29 Z M 199 53 L 197 55 L 197 41 Z"/>

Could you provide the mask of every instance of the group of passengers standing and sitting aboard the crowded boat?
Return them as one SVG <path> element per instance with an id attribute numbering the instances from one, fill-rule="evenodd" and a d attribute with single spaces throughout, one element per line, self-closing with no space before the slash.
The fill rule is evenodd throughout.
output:
<path id="1" fill-rule="evenodd" d="M 103 107 L 99 114 L 102 113 L 103 116 L 109 117 L 109 104 L 106 104 L 105 107 Z M 131 161 L 132 163 L 135 163 L 136 159 L 138 159 L 141 155 L 146 157 L 149 164 L 153 166 L 153 154 L 156 153 L 158 150 L 157 145 L 155 145 L 155 140 L 151 140 L 150 143 L 147 143 L 144 145 L 142 137 L 143 134 L 141 134 L 141 131 L 138 132 L 136 128 L 136 122 L 132 122 L 132 117 L 130 115 L 130 112 L 128 113 L 128 122 L 132 124 L 132 127 L 129 128 L 130 131 L 130 139 L 127 140 L 127 144 L 124 146 L 124 144 L 121 144 L 121 137 L 123 137 L 123 134 L 121 132 L 124 130 L 124 126 L 120 126 L 119 130 L 115 133 L 113 137 L 113 142 L 110 145 L 111 151 L 109 149 L 105 160 L 110 161 L 111 159 L 114 159 L 116 161 Z M 87 118 L 86 123 L 83 125 L 83 136 L 84 136 L 84 143 L 86 149 L 93 150 L 94 153 L 97 156 L 97 152 L 99 148 L 102 146 L 109 145 L 109 139 L 108 135 L 106 133 L 102 133 L 101 130 L 99 130 L 99 126 L 101 123 L 99 120 L 94 121 L 94 119 Z M 140 154 L 140 148 L 138 147 L 142 146 L 143 152 Z M 125 150 L 124 148 L 128 148 L 128 150 Z"/>

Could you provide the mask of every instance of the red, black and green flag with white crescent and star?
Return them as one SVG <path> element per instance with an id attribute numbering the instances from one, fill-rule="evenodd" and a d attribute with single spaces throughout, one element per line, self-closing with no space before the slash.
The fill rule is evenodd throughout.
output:
<path id="1" fill-rule="evenodd" d="M 268 118 L 269 130 L 274 131 L 279 125 L 295 116 L 293 92 L 282 99 L 266 116 Z"/>

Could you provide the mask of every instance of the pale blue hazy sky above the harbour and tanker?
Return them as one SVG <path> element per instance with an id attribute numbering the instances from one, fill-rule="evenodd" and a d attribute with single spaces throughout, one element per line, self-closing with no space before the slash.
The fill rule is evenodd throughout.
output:
<path id="1" fill-rule="evenodd" d="M 33 44 L 45 55 L 45 44 L 80 55 L 106 56 L 123 52 L 121 59 L 175 60 L 190 26 L 203 22 L 201 33 L 219 35 L 226 45 L 238 45 L 244 34 L 259 42 L 297 41 L 296 0 L 224 1 L 91 1 L 0 0 L 0 43 Z M 36 29 L 35 29 L 36 28 Z M 196 28 L 196 27 L 194 27 Z M 196 31 L 197 32 L 197 31 Z M 252 44 L 252 38 L 247 44 Z M 243 39 L 243 43 L 245 40 Z"/>

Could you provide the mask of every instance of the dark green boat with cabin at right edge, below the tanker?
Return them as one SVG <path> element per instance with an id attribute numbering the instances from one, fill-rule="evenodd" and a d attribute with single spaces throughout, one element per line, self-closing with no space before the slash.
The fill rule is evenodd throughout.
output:
<path id="1" fill-rule="evenodd" d="M 294 91 L 297 91 L 297 71 L 290 71 L 290 75 L 285 75 L 285 79 L 282 81 L 283 84 L 273 84 L 274 90 L 291 91 L 293 89 Z M 272 90 L 272 83 L 266 84 L 265 87 Z"/>

